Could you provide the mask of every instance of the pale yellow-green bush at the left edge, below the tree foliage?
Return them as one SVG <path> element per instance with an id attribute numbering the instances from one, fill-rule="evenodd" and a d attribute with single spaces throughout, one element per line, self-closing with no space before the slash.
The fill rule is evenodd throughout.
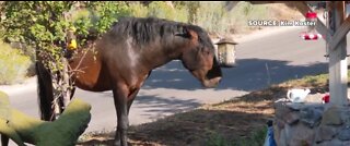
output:
<path id="1" fill-rule="evenodd" d="M 13 49 L 0 41 L 0 85 L 20 83 L 24 80 L 31 59 L 20 49 Z"/>

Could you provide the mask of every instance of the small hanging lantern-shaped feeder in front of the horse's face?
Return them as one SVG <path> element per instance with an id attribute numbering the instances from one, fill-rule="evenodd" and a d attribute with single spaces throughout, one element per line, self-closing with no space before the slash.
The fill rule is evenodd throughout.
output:
<path id="1" fill-rule="evenodd" d="M 235 45 L 237 42 L 230 38 L 220 39 L 218 45 L 218 61 L 220 66 L 233 68 L 236 65 Z"/>

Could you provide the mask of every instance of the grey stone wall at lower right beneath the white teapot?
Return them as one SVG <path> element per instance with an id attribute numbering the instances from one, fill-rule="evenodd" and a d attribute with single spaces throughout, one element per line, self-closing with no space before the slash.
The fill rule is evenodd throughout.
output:
<path id="1" fill-rule="evenodd" d="M 350 146 L 350 108 L 330 104 L 275 104 L 278 146 Z"/>

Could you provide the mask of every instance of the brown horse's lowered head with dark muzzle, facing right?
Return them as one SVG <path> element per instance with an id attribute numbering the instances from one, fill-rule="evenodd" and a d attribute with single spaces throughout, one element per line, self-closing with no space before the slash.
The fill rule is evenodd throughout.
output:
<path id="1" fill-rule="evenodd" d="M 214 54 L 214 46 L 209 35 L 198 26 L 186 26 L 177 36 L 185 37 L 180 60 L 184 66 L 198 78 L 205 87 L 215 87 L 221 77 L 221 69 Z"/>

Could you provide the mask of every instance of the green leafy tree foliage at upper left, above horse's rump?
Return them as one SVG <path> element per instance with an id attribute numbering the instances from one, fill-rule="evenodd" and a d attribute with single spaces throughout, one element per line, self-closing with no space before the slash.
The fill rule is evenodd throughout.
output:
<path id="1" fill-rule="evenodd" d="M 89 17 L 73 20 L 72 12 L 81 8 L 88 10 Z M 5 1 L 1 9 L 4 39 L 35 48 L 52 71 L 62 70 L 60 61 L 69 28 L 77 28 L 79 46 L 83 46 L 88 37 L 100 37 L 117 17 L 128 13 L 125 2 L 113 1 Z"/>

